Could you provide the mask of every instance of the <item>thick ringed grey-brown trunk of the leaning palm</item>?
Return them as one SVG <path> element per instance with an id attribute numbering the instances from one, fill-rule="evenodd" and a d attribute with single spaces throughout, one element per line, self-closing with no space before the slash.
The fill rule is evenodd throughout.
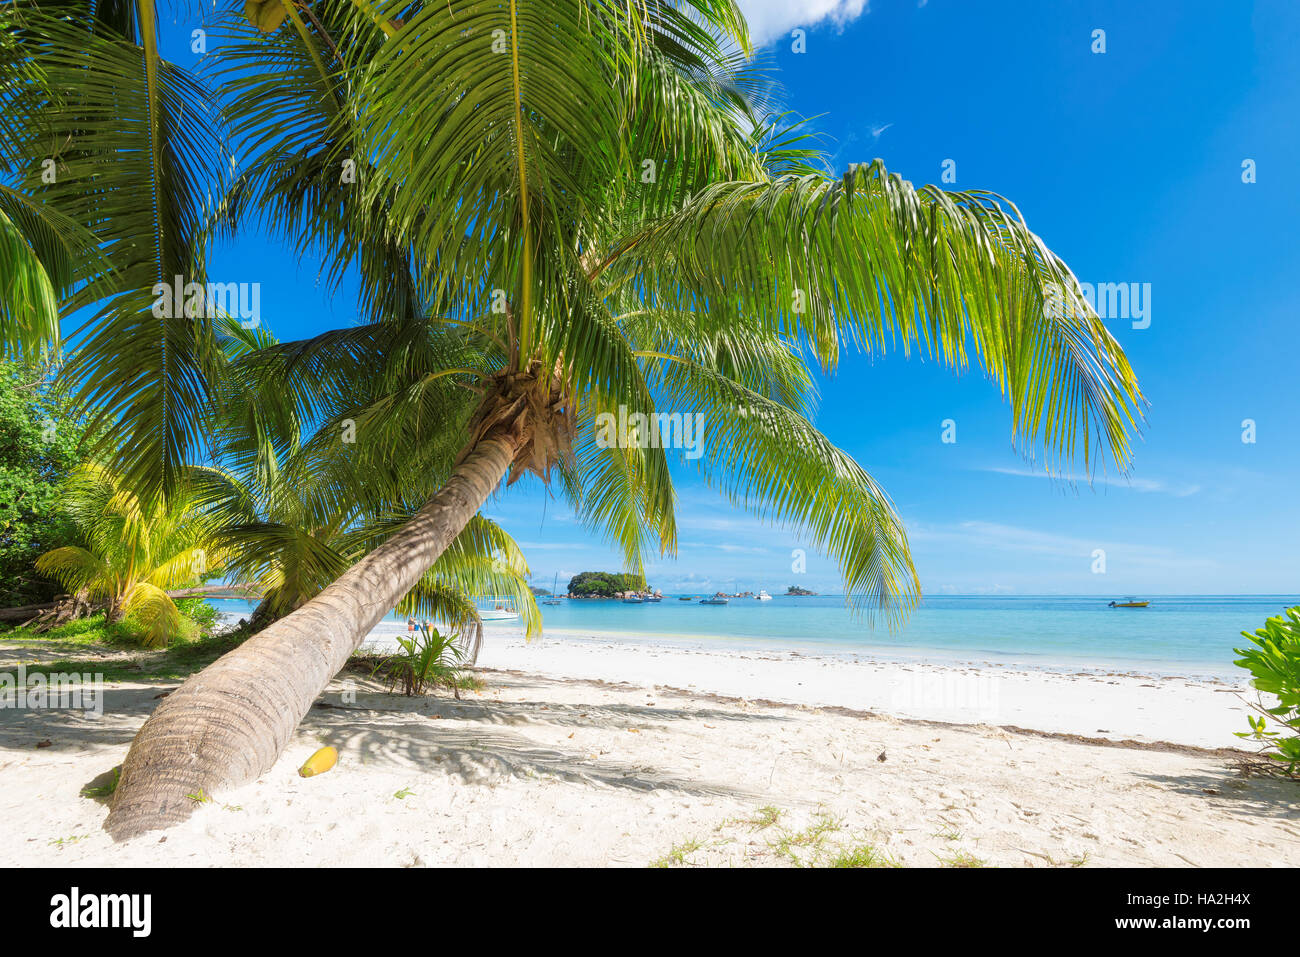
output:
<path id="1" fill-rule="evenodd" d="M 525 442 L 515 428 L 484 434 L 384 545 L 164 698 L 122 763 L 104 822 L 113 839 L 179 823 L 200 796 L 269 770 L 316 697 L 474 516 Z"/>

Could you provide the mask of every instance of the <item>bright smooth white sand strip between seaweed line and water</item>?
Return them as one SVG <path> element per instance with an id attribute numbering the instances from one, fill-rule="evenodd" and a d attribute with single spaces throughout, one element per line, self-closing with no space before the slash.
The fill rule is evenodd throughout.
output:
<path id="1" fill-rule="evenodd" d="M 367 645 L 382 648 L 382 632 Z M 378 641 L 376 641 L 378 640 Z M 1011 726 L 1106 740 L 1239 748 L 1247 680 L 1057 671 L 802 651 L 701 649 L 655 641 L 543 637 L 489 628 L 478 667 L 562 680 L 618 681 L 898 719 Z"/>

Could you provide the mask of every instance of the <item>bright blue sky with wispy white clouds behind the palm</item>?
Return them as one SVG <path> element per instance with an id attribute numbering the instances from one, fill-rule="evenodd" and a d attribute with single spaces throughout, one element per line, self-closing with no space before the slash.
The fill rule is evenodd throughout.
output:
<path id="1" fill-rule="evenodd" d="M 1150 400 L 1128 478 L 1045 477 L 1010 442 L 979 373 L 849 355 L 818 426 L 892 494 L 928 593 L 1169 594 L 1300 590 L 1294 387 L 1300 8 L 1286 0 L 1023 3 L 753 0 L 785 105 L 823 114 L 837 169 L 881 157 L 916 183 L 988 189 L 1084 282 L 1150 283 L 1149 325 L 1108 324 Z M 806 31 L 806 52 L 790 30 Z M 1105 31 L 1104 53 L 1092 52 Z M 179 57 L 178 57 L 179 59 Z M 1254 160 L 1257 182 L 1242 182 Z M 255 268 L 283 338 L 344 325 L 315 263 L 246 237 L 213 274 Z M 957 441 L 941 441 L 944 420 Z M 1242 423 L 1256 423 L 1256 442 Z M 832 562 L 729 508 L 682 471 L 666 590 L 837 592 Z M 616 568 L 560 498 L 520 482 L 488 514 L 540 584 Z M 1096 549 L 1105 573 L 1095 573 Z"/>

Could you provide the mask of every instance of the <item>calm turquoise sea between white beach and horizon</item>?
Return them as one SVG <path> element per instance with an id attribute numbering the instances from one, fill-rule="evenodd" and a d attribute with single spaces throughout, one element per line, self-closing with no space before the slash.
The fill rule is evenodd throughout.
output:
<path id="1" fill-rule="evenodd" d="M 541 607 L 543 635 L 566 638 L 1242 677 L 1232 666 L 1232 649 L 1245 642 L 1240 632 L 1300 605 L 1296 596 L 1152 596 L 1147 609 L 1110 609 L 1106 601 L 930 597 L 894 633 L 854 618 L 835 596 L 732 598 L 725 606 L 666 596 L 646 605 L 563 601 Z M 251 611 L 242 601 L 213 605 L 235 619 Z"/>

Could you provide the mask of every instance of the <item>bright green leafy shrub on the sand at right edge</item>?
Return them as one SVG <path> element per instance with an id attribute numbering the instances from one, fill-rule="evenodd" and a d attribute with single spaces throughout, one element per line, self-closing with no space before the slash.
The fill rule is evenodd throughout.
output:
<path id="1" fill-rule="evenodd" d="M 1235 649 L 1236 664 L 1251 672 L 1256 690 L 1277 697 L 1275 707 L 1256 705 L 1249 731 L 1236 732 L 1264 742 L 1264 754 L 1290 776 L 1300 776 L 1300 606 L 1275 615 L 1254 635 L 1242 632 L 1254 648 Z"/>

